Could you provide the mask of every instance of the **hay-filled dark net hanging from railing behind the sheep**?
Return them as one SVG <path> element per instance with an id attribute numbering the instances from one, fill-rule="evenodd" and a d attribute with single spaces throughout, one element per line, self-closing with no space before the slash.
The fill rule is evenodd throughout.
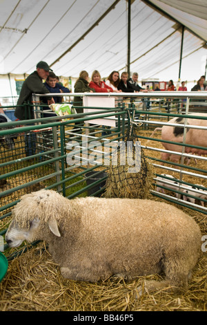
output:
<path id="1" fill-rule="evenodd" d="M 119 142 L 117 151 L 112 154 L 108 179 L 107 198 L 146 198 L 152 189 L 152 165 L 141 148 L 135 127 L 130 124 L 124 141 Z"/>

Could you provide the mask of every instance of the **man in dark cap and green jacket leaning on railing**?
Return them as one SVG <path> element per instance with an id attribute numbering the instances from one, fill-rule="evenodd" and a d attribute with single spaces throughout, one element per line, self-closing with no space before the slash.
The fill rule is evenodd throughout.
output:
<path id="1" fill-rule="evenodd" d="M 23 82 L 17 105 L 22 105 L 24 102 L 32 103 L 32 93 L 50 93 L 42 82 L 43 79 L 47 79 L 49 71 L 52 71 L 52 69 L 46 62 L 40 61 L 37 64 L 37 70 L 31 73 Z M 52 97 L 47 97 L 47 99 L 48 105 L 55 103 Z M 19 120 L 34 118 L 32 106 L 30 105 L 16 107 L 14 115 Z"/>

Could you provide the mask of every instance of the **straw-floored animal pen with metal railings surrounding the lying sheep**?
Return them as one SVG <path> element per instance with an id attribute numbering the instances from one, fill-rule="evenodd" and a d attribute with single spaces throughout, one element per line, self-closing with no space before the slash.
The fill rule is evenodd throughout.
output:
<path id="1" fill-rule="evenodd" d="M 152 132 L 156 127 L 161 127 L 173 117 L 179 118 L 182 115 L 185 118 L 189 115 L 188 113 L 192 113 L 192 115 L 198 112 L 204 113 L 206 102 L 203 97 L 197 95 L 198 100 L 203 100 L 200 103 L 195 99 L 194 95 L 190 97 L 189 93 L 190 100 L 186 102 L 184 101 L 187 99 L 185 96 L 186 94 L 183 97 L 170 97 L 169 94 L 159 95 L 159 97 L 158 95 L 153 97 L 151 94 L 134 95 L 130 96 L 130 100 L 125 100 L 116 109 L 106 110 L 103 107 L 97 111 L 97 108 L 93 108 L 94 113 L 85 114 L 88 116 L 87 118 L 83 118 L 83 115 L 71 115 L 70 119 L 66 121 L 63 121 L 63 118 L 47 118 L 42 119 L 41 124 L 39 124 L 40 120 L 37 120 L 37 123 L 33 126 L 20 122 L 8 124 L 9 126 L 12 125 L 12 127 L 14 125 L 18 127 L 16 129 L 0 131 L 0 136 L 4 141 L 3 145 L 1 145 L 1 152 L 3 153 L 1 158 L 5 157 L 1 160 L 0 165 L 0 234 L 4 236 L 6 233 L 10 223 L 12 207 L 20 200 L 22 194 L 47 188 L 55 189 L 70 199 L 76 196 L 88 196 L 88 190 L 96 188 L 107 177 L 101 176 L 101 178 L 88 185 L 87 180 L 92 177 L 86 176 L 86 174 L 90 171 L 98 171 L 100 174 L 102 171 L 108 171 L 108 165 L 101 165 L 101 161 L 104 161 L 103 158 L 105 158 L 105 162 L 110 160 L 113 146 L 124 139 L 128 128 L 130 129 L 132 126 L 153 170 L 154 179 L 148 198 L 155 201 L 167 201 L 169 204 L 177 205 L 181 210 L 192 216 L 199 224 L 202 234 L 206 234 L 206 198 L 198 199 L 191 192 L 186 197 L 195 196 L 195 202 L 192 203 L 184 200 L 182 196 L 182 186 L 184 185 L 193 186 L 200 184 L 201 189 L 206 189 L 206 157 L 191 155 L 190 153 L 186 154 L 183 151 L 179 153 L 180 161 L 178 163 L 162 160 L 161 153 L 166 151 L 166 149 L 161 144 L 161 131 L 157 131 L 151 138 Z M 116 127 L 106 128 L 102 125 L 87 124 L 88 120 L 96 120 L 100 116 L 115 118 Z M 77 119 L 74 120 L 74 118 Z M 84 124 L 83 120 L 85 121 Z M 204 118 L 203 120 L 206 119 Z M 21 127 L 19 127 L 20 124 Z M 83 127 L 80 128 L 79 124 L 83 124 Z M 186 125 L 184 126 L 185 128 Z M 28 141 L 26 140 L 26 135 L 28 135 Z M 10 140 L 6 140 L 7 136 L 12 137 L 8 138 Z M 111 145 L 110 152 L 107 151 L 107 154 L 103 150 L 103 144 L 106 141 L 109 141 Z M 29 145 L 31 143 L 32 146 Z M 12 145 L 14 146 L 13 149 Z M 30 154 L 32 156 L 27 156 L 26 149 L 31 150 Z M 188 165 L 184 163 L 184 158 L 186 157 L 190 158 Z M 79 165 L 72 165 L 72 160 L 78 162 Z M 69 162 L 70 164 L 68 164 Z M 162 179 L 161 187 L 164 188 L 164 193 L 157 192 L 156 188 L 157 178 L 161 174 L 168 175 Z M 174 189 L 170 187 L 169 175 L 178 180 L 178 186 Z M 195 189 L 195 193 L 199 191 L 200 189 Z M 104 195 L 104 187 L 99 187 L 92 195 L 102 194 Z M 204 205 L 201 205 L 201 202 Z M 34 243 L 34 245 L 35 248 L 33 250 L 29 250 L 24 254 L 21 254 L 21 252 L 33 246 L 23 245 L 20 250 L 8 250 L 5 245 L 4 254 L 6 254 L 10 261 L 10 272 L 12 272 L 9 284 L 11 294 L 4 292 L 1 296 L 2 300 L 10 299 L 12 301 L 11 304 L 7 304 L 6 309 L 19 308 L 19 310 L 23 310 L 23 306 L 25 306 L 27 301 L 28 310 L 44 310 L 44 308 L 48 308 L 48 310 L 120 311 L 143 309 L 204 310 L 206 253 L 195 269 L 188 295 L 181 296 L 179 301 L 178 298 L 172 295 L 164 296 L 159 291 L 153 296 L 147 295 L 141 298 L 142 302 L 140 304 L 135 299 L 135 296 L 137 295 L 137 286 L 141 284 L 143 278 L 138 281 L 132 281 L 130 284 L 126 284 L 124 279 L 121 281 L 109 279 L 105 284 L 97 284 L 96 286 L 91 286 L 90 284 L 88 286 L 84 284 L 71 284 L 70 281 L 61 279 L 59 270 L 50 259 L 46 246 L 42 243 L 38 245 Z M 14 259 L 17 256 L 18 258 Z M 27 261 L 28 258 L 32 261 L 31 263 Z M 37 267 L 38 264 L 39 266 Z M 30 270 L 28 271 L 28 269 Z M 41 284 L 38 282 L 41 270 L 46 275 L 46 278 L 51 279 L 50 284 L 47 284 L 46 281 L 42 281 Z M 21 277 L 19 277 L 18 272 L 21 274 Z M 34 288 L 30 287 L 29 281 L 26 279 L 25 274 L 27 272 L 31 274 Z M 156 277 L 159 278 L 158 275 Z M 23 292 L 19 295 L 15 286 L 12 286 L 14 279 L 18 279 L 18 285 L 23 288 L 25 297 L 23 297 Z M 155 279 L 155 277 L 152 277 L 152 279 Z M 3 283 L 0 286 L 3 288 Z M 41 288 L 44 288 L 44 290 L 41 290 Z M 26 298 L 28 290 L 30 290 L 32 297 L 29 300 Z M 19 295 L 19 302 L 12 298 L 12 293 Z M 105 296 L 105 293 L 108 294 L 108 297 Z M 46 297 L 45 307 L 40 304 L 43 294 Z M 79 303 L 75 302 L 72 295 L 75 295 Z M 57 298 L 56 302 L 52 301 L 54 297 Z M 64 304 L 61 297 L 65 299 Z M 83 300 L 86 303 L 88 297 L 90 297 L 90 304 L 84 304 Z M 0 306 L 3 308 L 1 299 Z M 156 303 L 152 301 L 156 301 Z"/>

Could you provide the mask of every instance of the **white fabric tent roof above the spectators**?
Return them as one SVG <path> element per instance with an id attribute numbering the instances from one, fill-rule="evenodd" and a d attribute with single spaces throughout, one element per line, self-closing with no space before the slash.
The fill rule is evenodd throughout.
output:
<path id="1" fill-rule="evenodd" d="M 183 57 L 204 49 L 207 3 L 131 1 L 130 23 L 130 70 L 153 77 L 179 62 L 182 25 Z M 32 73 L 43 60 L 57 75 L 78 77 L 97 69 L 107 77 L 126 71 L 127 37 L 126 0 L 0 1 L 1 74 Z"/>

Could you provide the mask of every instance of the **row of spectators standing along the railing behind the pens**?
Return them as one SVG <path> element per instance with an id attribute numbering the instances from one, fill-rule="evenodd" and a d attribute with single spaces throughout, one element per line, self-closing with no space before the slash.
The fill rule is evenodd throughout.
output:
<path id="1" fill-rule="evenodd" d="M 19 118 L 19 120 L 34 118 L 31 105 L 25 105 L 26 102 L 32 103 L 32 93 L 70 93 L 70 90 L 59 82 L 58 77 L 46 62 L 39 62 L 36 68 L 37 70 L 31 73 L 23 82 L 21 92 L 19 94 L 19 100 L 17 101 L 18 106 L 14 112 L 14 115 Z M 46 80 L 46 82 L 43 83 L 43 80 Z M 204 82 L 205 76 L 201 76 L 191 91 L 207 91 L 207 86 L 204 85 Z M 176 87 L 172 80 L 169 80 L 167 90 L 176 91 Z M 181 82 L 181 86 L 179 86 L 177 90 L 187 91 L 185 82 Z M 121 76 L 119 76 L 118 71 L 112 71 L 106 82 L 101 80 L 101 75 L 97 70 L 93 71 L 90 81 L 88 72 L 81 71 L 74 87 L 75 93 L 138 93 L 148 91 L 152 90 L 144 89 L 139 86 L 138 73 L 133 73 L 132 77 L 129 78 L 127 72 L 123 72 L 121 73 Z M 47 96 L 43 98 L 44 104 L 50 105 L 58 102 L 61 102 L 61 96 L 53 95 L 53 97 Z M 83 106 L 82 98 L 75 96 L 74 104 L 75 106 L 79 106 L 79 108 L 77 108 L 77 113 L 81 113 L 83 111 L 81 108 L 81 106 Z"/>

